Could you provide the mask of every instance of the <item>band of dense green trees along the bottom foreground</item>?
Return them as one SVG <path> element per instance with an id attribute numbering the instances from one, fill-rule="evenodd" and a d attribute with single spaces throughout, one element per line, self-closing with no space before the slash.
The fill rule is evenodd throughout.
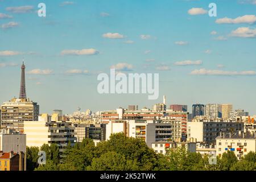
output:
<path id="1" fill-rule="evenodd" d="M 55 144 L 44 144 L 40 150 L 46 151 L 47 163 L 38 166 L 39 148 L 27 148 L 27 160 L 31 168 L 43 171 L 216 171 L 216 170 L 256 170 L 256 154 L 249 152 L 245 159 L 238 161 L 234 152 L 217 156 L 217 164 L 210 164 L 208 156 L 189 152 L 184 147 L 168 151 L 168 155 L 156 154 L 142 139 L 129 138 L 123 133 L 112 134 L 110 139 L 95 146 L 93 140 L 68 147 L 61 156 Z M 33 168 L 34 167 L 34 168 Z"/>

